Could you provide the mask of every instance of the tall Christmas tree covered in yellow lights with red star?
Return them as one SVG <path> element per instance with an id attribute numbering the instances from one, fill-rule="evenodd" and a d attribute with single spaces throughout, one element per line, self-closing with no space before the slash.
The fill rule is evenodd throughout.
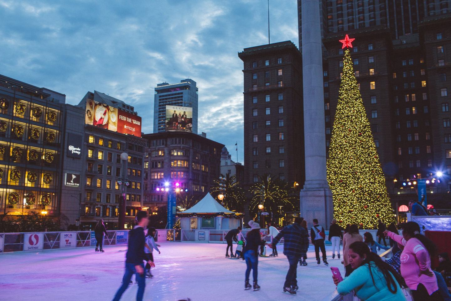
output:
<path id="1" fill-rule="evenodd" d="M 354 39 L 341 40 L 343 48 Z M 362 96 L 345 50 L 338 103 L 333 123 L 327 181 L 332 190 L 334 218 L 341 225 L 364 228 L 394 222 L 390 198 Z"/>

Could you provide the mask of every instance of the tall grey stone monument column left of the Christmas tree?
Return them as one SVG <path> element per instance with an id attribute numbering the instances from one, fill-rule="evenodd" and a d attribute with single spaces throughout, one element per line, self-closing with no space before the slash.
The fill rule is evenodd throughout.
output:
<path id="1" fill-rule="evenodd" d="M 328 229 L 333 204 L 326 179 L 320 1 L 301 0 L 305 183 L 300 192 L 300 213 L 308 223 L 317 218 Z"/>

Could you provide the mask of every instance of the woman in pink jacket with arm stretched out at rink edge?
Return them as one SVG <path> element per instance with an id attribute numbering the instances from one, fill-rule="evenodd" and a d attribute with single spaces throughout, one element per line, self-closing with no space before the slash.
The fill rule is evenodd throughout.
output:
<path id="1" fill-rule="evenodd" d="M 390 231 L 385 231 L 384 234 L 404 245 L 400 256 L 401 275 L 412 291 L 414 301 L 442 300 L 437 278 L 431 269 L 431 256 L 435 254 L 436 246 L 420 234 L 420 227 L 416 222 L 406 222 L 401 227 L 402 236 Z"/>

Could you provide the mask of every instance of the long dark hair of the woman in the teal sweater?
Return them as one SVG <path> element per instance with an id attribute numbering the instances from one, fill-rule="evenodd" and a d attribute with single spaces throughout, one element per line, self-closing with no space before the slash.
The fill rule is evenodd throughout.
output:
<path id="1" fill-rule="evenodd" d="M 366 245 L 362 241 L 355 241 L 349 246 L 350 250 L 353 250 L 354 253 L 359 254 L 361 258 L 364 258 L 364 261 L 362 264 L 368 264 L 369 273 L 371 275 L 371 279 L 373 280 L 373 285 L 376 287 L 376 283 L 374 282 L 373 272 L 371 272 L 371 262 L 374 262 L 376 267 L 381 271 L 381 273 L 384 275 L 385 281 L 387 282 L 388 290 L 396 294 L 396 291 L 398 288 L 396 287 L 395 279 L 399 283 L 401 287 L 405 286 L 404 279 L 396 272 L 395 269 L 393 269 L 390 264 L 387 264 L 386 262 L 383 262 L 381 257 L 377 255 L 376 253 L 373 253 L 369 250 L 368 245 Z M 374 265 L 373 265 L 374 268 Z M 391 277 L 390 275 L 393 274 L 395 279 Z"/>

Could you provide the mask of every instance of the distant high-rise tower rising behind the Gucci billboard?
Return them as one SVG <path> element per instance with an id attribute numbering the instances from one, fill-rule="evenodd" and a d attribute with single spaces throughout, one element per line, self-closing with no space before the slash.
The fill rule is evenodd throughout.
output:
<path id="1" fill-rule="evenodd" d="M 183 79 L 180 83 L 159 83 L 155 87 L 153 132 L 166 131 L 166 106 L 193 108 L 192 132 L 198 130 L 198 91 L 196 82 Z"/>

